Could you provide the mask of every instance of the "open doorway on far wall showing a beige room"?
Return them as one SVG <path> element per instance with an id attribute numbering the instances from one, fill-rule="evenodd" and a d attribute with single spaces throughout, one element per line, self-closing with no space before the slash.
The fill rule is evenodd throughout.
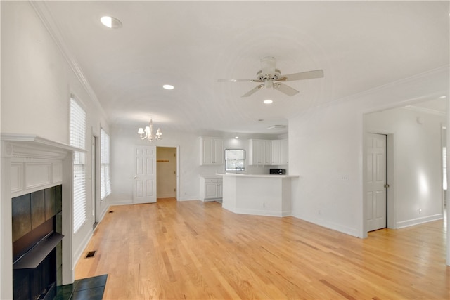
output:
<path id="1" fill-rule="evenodd" d="M 157 198 L 176 198 L 176 148 L 156 148 Z"/>

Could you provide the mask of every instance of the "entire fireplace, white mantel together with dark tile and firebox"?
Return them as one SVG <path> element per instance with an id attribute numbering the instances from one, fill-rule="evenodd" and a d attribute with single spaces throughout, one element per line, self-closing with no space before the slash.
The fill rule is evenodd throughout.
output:
<path id="1" fill-rule="evenodd" d="M 75 150 L 38 136 L 1 134 L 0 299 L 47 299 L 46 292 L 53 299 L 57 286 L 73 284 Z"/>

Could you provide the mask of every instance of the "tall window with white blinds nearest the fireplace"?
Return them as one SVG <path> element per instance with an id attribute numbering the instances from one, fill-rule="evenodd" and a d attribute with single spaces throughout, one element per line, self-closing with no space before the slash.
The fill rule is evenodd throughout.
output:
<path id="1" fill-rule="evenodd" d="M 86 112 L 70 98 L 70 145 L 86 149 Z M 73 160 L 73 232 L 86 221 L 86 153 L 75 151 Z"/>

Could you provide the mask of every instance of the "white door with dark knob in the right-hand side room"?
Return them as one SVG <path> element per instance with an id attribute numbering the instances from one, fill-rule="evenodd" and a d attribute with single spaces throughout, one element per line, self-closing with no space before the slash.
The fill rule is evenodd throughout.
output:
<path id="1" fill-rule="evenodd" d="M 386 227 L 386 136 L 367 136 L 367 227 L 368 231 Z"/>

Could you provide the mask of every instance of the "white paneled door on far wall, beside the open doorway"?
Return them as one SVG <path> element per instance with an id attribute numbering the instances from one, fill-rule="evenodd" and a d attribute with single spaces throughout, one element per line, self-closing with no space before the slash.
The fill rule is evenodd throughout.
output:
<path id="1" fill-rule="evenodd" d="M 156 146 L 134 148 L 133 203 L 156 202 Z"/>

